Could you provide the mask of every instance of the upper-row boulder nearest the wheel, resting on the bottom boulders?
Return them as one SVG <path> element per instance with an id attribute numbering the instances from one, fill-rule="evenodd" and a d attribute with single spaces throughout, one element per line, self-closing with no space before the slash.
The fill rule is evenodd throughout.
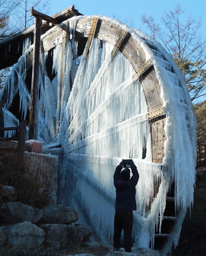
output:
<path id="1" fill-rule="evenodd" d="M 78 214 L 73 207 L 60 204 L 50 204 L 41 208 L 43 217 L 41 223 L 45 224 L 69 224 L 78 220 Z"/>

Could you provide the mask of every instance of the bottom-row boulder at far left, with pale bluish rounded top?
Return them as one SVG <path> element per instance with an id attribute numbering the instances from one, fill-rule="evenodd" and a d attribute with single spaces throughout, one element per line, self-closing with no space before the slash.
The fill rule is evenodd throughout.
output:
<path id="1" fill-rule="evenodd" d="M 6 225 L 0 228 L 6 236 L 6 243 L 19 248 L 38 248 L 44 242 L 45 233 L 31 222 Z"/>

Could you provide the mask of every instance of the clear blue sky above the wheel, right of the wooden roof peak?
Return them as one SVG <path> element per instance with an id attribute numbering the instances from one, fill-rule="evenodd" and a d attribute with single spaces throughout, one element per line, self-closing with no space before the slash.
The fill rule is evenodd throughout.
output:
<path id="1" fill-rule="evenodd" d="M 167 12 L 180 4 L 184 12 L 184 19 L 188 16 L 202 19 L 200 33 L 206 38 L 206 0 L 50 0 L 49 15 L 55 14 L 66 7 L 75 6 L 80 13 L 84 15 L 104 15 L 107 17 L 115 16 L 115 19 L 123 23 L 132 21 L 134 28 L 144 33 L 148 33 L 141 22 L 141 16 L 145 12 L 146 16 L 152 15 L 156 21 L 159 21 L 164 10 Z"/>

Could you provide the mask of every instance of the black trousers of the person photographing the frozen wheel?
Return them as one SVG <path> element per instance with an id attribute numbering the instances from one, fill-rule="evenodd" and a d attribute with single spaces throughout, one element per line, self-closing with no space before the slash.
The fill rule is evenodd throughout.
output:
<path id="1" fill-rule="evenodd" d="M 121 247 L 121 233 L 124 230 L 123 247 L 125 249 L 132 248 L 132 228 L 133 228 L 133 213 L 128 211 L 117 211 L 114 216 L 114 236 L 113 246 Z"/>

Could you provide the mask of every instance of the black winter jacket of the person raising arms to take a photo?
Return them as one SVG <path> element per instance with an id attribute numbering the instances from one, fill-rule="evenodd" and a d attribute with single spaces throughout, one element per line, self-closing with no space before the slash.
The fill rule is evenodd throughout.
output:
<path id="1" fill-rule="evenodd" d="M 121 179 L 120 173 L 122 165 L 117 165 L 114 172 L 114 186 L 116 188 L 115 210 L 128 210 L 136 209 L 136 184 L 138 184 L 139 173 L 136 166 L 131 166 L 132 177 L 129 180 Z"/>

